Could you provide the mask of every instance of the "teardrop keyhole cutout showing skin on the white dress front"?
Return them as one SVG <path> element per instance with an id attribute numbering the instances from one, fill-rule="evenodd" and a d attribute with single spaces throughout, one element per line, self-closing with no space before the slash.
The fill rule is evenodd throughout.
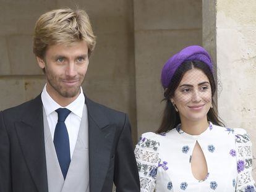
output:
<path id="1" fill-rule="evenodd" d="M 207 159 L 197 140 L 191 154 L 190 173 L 197 182 L 204 182 L 209 175 Z"/>

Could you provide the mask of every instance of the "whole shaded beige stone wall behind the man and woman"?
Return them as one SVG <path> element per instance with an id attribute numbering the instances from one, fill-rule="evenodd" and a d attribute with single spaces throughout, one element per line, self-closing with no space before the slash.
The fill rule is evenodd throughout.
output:
<path id="1" fill-rule="evenodd" d="M 164 62 L 184 46 L 202 44 L 201 1 L 2 1 L 0 110 L 34 98 L 45 85 L 32 52 L 38 17 L 76 5 L 87 10 L 97 36 L 83 88 L 95 101 L 129 114 L 136 143 L 159 126 Z"/>

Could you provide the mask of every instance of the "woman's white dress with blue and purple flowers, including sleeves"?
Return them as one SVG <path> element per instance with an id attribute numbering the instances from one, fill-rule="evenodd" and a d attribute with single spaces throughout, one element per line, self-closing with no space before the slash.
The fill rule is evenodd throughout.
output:
<path id="1" fill-rule="evenodd" d="M 197 180 L 190 159 L 198 142 L 208 174 Z M 253 192 L 252 143 L 241 128 L 210 123 L 200 135 L 189 135 L 180 125 L 167 133 L 144 133 L 135 148 L 142 192 Z"/>

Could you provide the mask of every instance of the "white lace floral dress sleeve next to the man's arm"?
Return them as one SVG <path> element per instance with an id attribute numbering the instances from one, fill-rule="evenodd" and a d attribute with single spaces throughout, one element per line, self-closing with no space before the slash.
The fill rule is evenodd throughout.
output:
<path id="1" fill-rule="evenodd" d="M 135 157 L 139 170 L 140 191 L 153 192 L 156 185 L 158 163 L 158 149 L 160 143 L 155 133 L 144 133 L 140 136 L 135 148 Z"/>

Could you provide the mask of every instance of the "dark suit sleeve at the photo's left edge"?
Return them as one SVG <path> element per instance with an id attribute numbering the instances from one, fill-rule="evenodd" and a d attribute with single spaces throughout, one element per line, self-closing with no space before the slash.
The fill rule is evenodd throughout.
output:
<path id="1" fill-rule="evenodd" d="M 3 112 L 0 112 L 0 191 L 12 191 L 10 143 L 4 125 Z"/>

